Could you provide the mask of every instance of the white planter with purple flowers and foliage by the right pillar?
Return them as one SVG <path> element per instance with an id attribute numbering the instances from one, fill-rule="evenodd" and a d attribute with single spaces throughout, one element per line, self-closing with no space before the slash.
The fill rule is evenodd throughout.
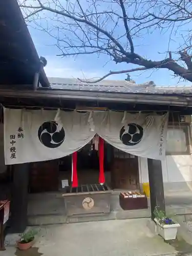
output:
<path id="1" fill-rule="evenodd" d="M 158 207 L 155 208 L 154 215 L 158 234 L 164 238 L 164 240 L 176 239 L 177 229 L 180 227 L 179 223 L 166 216 L 164 211 L 158 210 Z"/>

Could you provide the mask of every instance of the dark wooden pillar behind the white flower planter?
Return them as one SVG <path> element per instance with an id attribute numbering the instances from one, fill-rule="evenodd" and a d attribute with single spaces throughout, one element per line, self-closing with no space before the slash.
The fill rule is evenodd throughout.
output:
<path id="1" fill-rule="evenodd" d="M 150 182 L 151 214 L 154 220 L 154 210 L 158 206 L 160 210 L 165 211 L 165 198 L 163 188 L 163 174 L 160 160 L 147 159 L 148 179 Z"/>

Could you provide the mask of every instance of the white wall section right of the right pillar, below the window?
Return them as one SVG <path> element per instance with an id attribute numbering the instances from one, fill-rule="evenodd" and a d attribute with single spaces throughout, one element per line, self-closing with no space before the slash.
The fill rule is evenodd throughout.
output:
<path id="1" fill-rule="evenodd" d="M 192 191 L 192 156 L 166 156 L 165 191 Z"/>

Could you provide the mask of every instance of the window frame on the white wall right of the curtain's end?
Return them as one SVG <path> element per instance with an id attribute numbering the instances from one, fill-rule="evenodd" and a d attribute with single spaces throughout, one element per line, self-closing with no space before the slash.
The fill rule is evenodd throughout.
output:
<path id="1" fill-rule="evenodd" d="M 182 129 L 184 131 L 185 134 L 185 139 L 186 139 L 186 152 L 167 152 L 167 149 L 165 150 L 165 154 L 166 156 L 180 156 L 180 155 L 191 155 L 191 146 L 190 146 L 190 142 L 191 142 L 191 136 L 190 136 L 190 124 L 189 123 L 177 123 L 175 125 L 173 124 L 168 124 L 167 127 L 167 132 L 168 129 L 172 128 L 172 129 Z"/>

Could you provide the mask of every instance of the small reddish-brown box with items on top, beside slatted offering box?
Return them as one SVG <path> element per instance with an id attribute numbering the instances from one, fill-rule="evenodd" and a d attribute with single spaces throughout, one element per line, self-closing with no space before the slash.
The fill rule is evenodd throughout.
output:
<path id="1" fill-rule="evenodd" d="M 148 207 L 146 196 L 135 191 L 122 192 L 119 195 L 119 204 L 123 210 L 139 210 Z"/>

